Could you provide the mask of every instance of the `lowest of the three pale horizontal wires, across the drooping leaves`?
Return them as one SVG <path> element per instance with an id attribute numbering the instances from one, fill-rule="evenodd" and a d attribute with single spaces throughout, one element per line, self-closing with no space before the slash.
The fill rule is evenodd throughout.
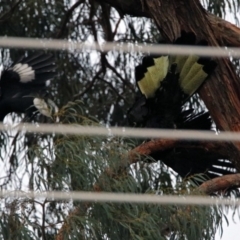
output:
<path id="1" fill-rule="evenodd" d="M 7 191 L 0 192 L 1 198 L 48 198 L 48 200 L 79 200 L 88 202 L 115 202 L 115 203 L 151 203 L 151 204 L 178 204 L 178 205 L 231 205 L 239 206 L 239 199 L 212 198 L 203 196 L 159 196 L 153 194 L 129 193 L 94 193 L 94 192 L 35 192 L 35 191 Z"/>

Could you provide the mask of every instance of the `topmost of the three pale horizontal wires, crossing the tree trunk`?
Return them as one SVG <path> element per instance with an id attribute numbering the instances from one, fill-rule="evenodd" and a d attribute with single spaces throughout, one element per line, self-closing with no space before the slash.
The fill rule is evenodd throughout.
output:
<path id="1" fill-rule="evenodd" d="M 105 42 L 99 43 L 88 42 L 70 42 L 69 40 L 55 39 L 34 39 L 34 38 L 19 38 L 19 37 L 1 37 L 0 46 L 5 48 L 26 48 L 26 49 L 51 49 L 65 51 L 122 51 L 122 52 L 149 52 L 154 54 L 167 55 L 199 55 L 212 57 L 240 57 L 240 48 L 226 47 L 201 47 L 201 46 L 180 46 L 169 44 L 130 44 L 130 43 L 114 43 Z"/>

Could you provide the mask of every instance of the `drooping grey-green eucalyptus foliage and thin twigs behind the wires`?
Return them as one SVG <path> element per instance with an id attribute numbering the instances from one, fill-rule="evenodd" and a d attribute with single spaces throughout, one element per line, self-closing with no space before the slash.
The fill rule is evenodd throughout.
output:
<path id="1" fill-rule="evenodd" d="M 204 4 L 219 16 L 224 16 L 227 7 L 236 16 L 239 8 L 237 0 Z M 128 42 L 130 46 L 160 38 L 152 20 L 122 17 L 94 0 L 2 0 L 0 35 Z M 1 49 L 0 60 L 6 65 L 31 52 Z M 58 76 L 48 94 L 60 107 L 60 123 L 127 126 L 126 113 L 136 90 L 134 67 L 141 54 L 73 49 L 52 54 Z M 198 98 L 189 104 L 204 108 Z M 12 114 L 6 124 L 20 121 L 25 121 L 24 116 Z M 146 159 L 129 165 L 128 152 L 137 140 L 35 134 L 17 128 L 0 137 L 1 189 L 184 196 L 194 187 L 176 178 L 161 162 L 150 164 Z M 2 198 L 0 216 L 1 239 L 54 239 L 59 230 L 64 239 L 212 239 L 221 227 L 223 212 L 219 207 Z"/>

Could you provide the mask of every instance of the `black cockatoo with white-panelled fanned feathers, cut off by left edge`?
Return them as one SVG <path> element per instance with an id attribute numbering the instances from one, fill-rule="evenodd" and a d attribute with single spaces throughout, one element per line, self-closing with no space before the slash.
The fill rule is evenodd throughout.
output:
<path id="1" fill-rule="evenodd" d="M 0 77 L 0 121 L 11 112 L 25 113 L 30 118 L 37 112 L 51 117 L 57 106 L 43 96 L 46 81 L 55 75 L 54 58 L 44 53 L 22 57 L 4 68 Z"/>

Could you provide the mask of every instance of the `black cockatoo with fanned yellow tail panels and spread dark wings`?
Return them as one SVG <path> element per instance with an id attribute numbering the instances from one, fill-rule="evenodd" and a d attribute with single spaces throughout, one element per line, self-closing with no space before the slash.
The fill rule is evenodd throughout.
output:
<path id="1" fill-rule="evenodd" d="M 182 32 L 174 44 L 195 45 L 194 33 Z M 201 41 L 198 45 L 207 45 Z M 208 112 L 184 108 L 217 64 L 210 58 L 191 56 L 145 56 L 135 68 L 139 91 L 128 111 L 130 125 L 147 128 L 210 130 Z M 151 154 L 181 177 L 205 173 L 209 178 L 235 172 L 222 156 L 197 148 L 174 148 Z"/>

